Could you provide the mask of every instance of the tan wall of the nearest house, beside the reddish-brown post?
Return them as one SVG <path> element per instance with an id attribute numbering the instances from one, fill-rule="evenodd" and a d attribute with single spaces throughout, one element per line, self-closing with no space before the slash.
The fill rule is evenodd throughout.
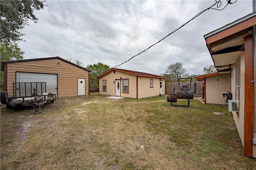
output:
<path id="1" fill-rule="evenodd" d="M 244 146 L 244 53 L 240 56 L 240 100 L 239 100 L 239 116 L 236 112 L 232 112 L 236 127 Z M 232 100 L 236 100 L 236 65 L 231 71 L 231 92 Z"/>

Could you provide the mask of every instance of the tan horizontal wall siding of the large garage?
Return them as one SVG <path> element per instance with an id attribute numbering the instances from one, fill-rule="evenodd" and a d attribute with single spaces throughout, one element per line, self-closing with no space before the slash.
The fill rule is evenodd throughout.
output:
<path id="1" fill-rule="evenodd" d="M 89 72 L 59 59 L 8 63 L 8 95 L 12 95 L 16 72 L 58 74 L 58 97 L 77 96 L 77 78 L 85 78 L 85 92 L 89 95 Z"/>

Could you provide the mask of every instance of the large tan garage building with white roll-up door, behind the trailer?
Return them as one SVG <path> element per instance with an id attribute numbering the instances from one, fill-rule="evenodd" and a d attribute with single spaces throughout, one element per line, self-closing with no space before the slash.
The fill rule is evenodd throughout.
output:
<path id="1" fill-rule="evenodd" d="M 46 82 L 46 92 L 56 97 L 89 95 L 90 70 L 60 57 L 2 61 L 1 69 L 8 96 L 19 82 Z"/>

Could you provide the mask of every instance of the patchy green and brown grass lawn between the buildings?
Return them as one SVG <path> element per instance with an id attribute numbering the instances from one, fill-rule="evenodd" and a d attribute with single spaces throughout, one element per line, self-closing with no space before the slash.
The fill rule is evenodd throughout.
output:
<path id="1" fill-rule="evenodd" d="M 1 169 L 256 169 L 228 107 L 195 99 L 170 107 L 166 99 L 91 93 L 58 98 L 42 113 L 2 106 Z"/>

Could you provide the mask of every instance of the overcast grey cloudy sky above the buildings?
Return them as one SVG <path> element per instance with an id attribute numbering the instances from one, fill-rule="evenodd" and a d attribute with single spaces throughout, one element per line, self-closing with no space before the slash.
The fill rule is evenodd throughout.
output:
<path id="1" fill-rule="evenodd" d="M 226 6 L 221 0 L 218 8 Z M 232 0 L 231 2 L 235 2 Z M 113 68 L 144 51 L 215 0 L 46 0 L 35 11 L 38 23 L 22 29 L 18 46 L 24 59 L 61 57 L 84 66 L 101 62 Z M 219 4 L 220 5 L 220 4 Z M 224 10 L 207 10 L 144 53 L 117 68 L 163 74 L 181 62 L 189 74 L 202 74 L 213 64 L 204 35 L 252 12 L 252 0 L 237 0 Z"/>

